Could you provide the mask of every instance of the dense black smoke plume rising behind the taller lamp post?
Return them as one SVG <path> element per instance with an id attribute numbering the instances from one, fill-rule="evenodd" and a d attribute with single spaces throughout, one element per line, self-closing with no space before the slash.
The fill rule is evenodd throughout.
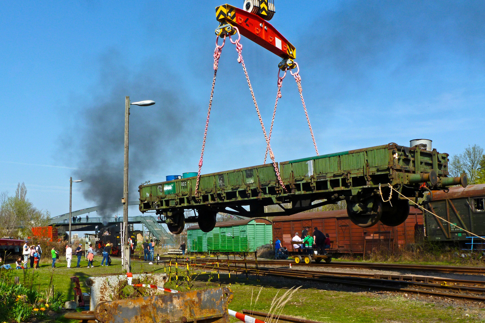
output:
<path id="1" fill-rule="evenodd" d="M 147 62 L 132 72 L 109 52 L 101 61 L 100 81 L 89 100 L 77 104 L 81 111 L 64 141 L 78 170 L 76 178 L 84 198 L 95 205 L 120 203 L 123 197 L 125 96 L 131 102 L 154 100 L 149 107 L 131 106 L 129 116 L 129 200 L 138 200 L 138 185 L 164 180 L 163 169 L 176 153 L 183 156 L 190 136 L 193 107 L 188 105 L 176 80 L 157 62 Z M 67 142 L 66 142 L 67 141 Z M 189 142 L 190 144 L 190 142 Z M 194 162 L 194 165 L 195 162 Z M 163 175 L 163 176 L 162 176 Z M 98 211 L 106 217 L 113 209 Z"/>

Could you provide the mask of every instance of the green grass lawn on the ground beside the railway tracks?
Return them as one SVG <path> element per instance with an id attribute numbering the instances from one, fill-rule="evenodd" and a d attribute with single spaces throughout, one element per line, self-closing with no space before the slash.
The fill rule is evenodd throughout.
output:
<path id="1" fill-rule="evenodd" d="M 75 258 L 75 260 L 77 260 Z M 120 260 L 113 258 L 113 266 L 99 266 L 101 257 L 95 257 L 95 268 L 86 268 L 87 261 L 81 261 L 81 268 L 66 268 L 65 260 L 57 263 L 54 269 L 53 284 L 56 289 L 66 293 L 66 300 L 73 299 L 72 288 L 74 284 L 70 281 L 71 276 L 77 276 L 81 281 L 83 292 L 89 292 L 85 287 L 84 280 L 91 276 L 101 276 L 104 274 L 122 274 Z M 75 266 L 75 262 L 73 261 Z M 163 273 L 163 266 L 148 265 L 146 262 L 132 261 L 132 272 L 155 272 Z M 174 269 L 172 267 L 172 269 Z M 180 270 L 182 268 L 179 267 Z M 180 272 L 179 270 L 179 272 Z M 31 271 L 29 269 L 29 271 Z M 168 271 L 168 269 L 167 269 Z M 15 272 L 15 270 L 14 270 Z M 18 270 L 18 276 L 22 276 L 22 271 Z M 32 271 L 31 271 L 32 272 Z M 48 288 L 50 275 L 52 271 L 50 264 L 41 263 L 41 268 L 35 270 L 34 285 L 38 284 L 41 290 Z M 372 293 L 372 292 L 342 292 L 336 291 L 338 286 L 314 283 L 310 281 L 301 281 L 296 279 L 286 279 L 278 277 L 261 277 L 261 282 L 257 282 L 255 277 L 249 280 L 242 275 L 231 274 L 231 290 L 234 292 L 234 298 L 229 308 L 242 311 L 242 309 L 254 309 L 268 312 L 271 301 L 276 292 L 282 295 L 287 289 L 293 286 L 303 287 L 298 290 L 292 300 L 285 306 L 283 315 L 297 316 L 308 320 L 319 322 L 482 322 L 480 321 L 480 311 L 476 308 L 459 308 L 458 306 L 441 305 L 440 303 L 431 303 L 422 299 L 408 299 L 403 294 L 395 295 L 393 293 Z M 22 277 L 20 278 L 22 280 Z M 214 288 L 217 287 L 217 275 L 199 275 L 194 281 L 193 289 Z M 223 285 L 228 285 L 227 274 L 221 274 Z M 168 288 L 178 289 L 183 292 L 187 288 L 184 284 L 176 287 L 176 283 L 166 284 Z M 263 292 L 259 296 L 259 301 L 255 305 L 259 289 L 263 287 Z M 253 295 L 253 304 L 251 304 L 251 293 Z M 468 313 L 470 316 L 466 317 Z M 231 323 L 237 322 L 231 319 Z M 59 323 L 68 323 L 59 319 Z"/>

